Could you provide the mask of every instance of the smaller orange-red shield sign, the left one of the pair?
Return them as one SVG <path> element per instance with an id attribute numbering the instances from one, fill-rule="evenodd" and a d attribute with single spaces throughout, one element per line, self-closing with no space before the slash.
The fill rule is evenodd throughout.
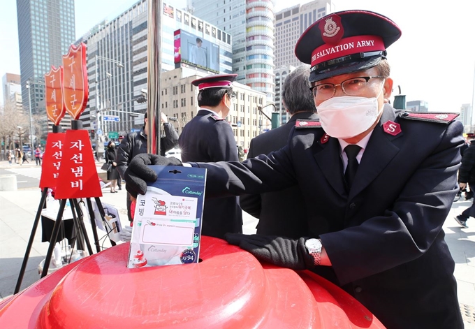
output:
<path id="1" fill-rule="evenodd" d="M 66 114 L 63 102 L 63 67 L 51 66 L 50 73 L 45 74 L 46 115 L 56 126 Z"/>

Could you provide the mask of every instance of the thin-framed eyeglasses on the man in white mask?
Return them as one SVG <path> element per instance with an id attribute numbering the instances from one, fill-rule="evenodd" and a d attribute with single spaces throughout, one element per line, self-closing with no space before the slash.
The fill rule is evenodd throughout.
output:
<path id="1" fill-rule="evenodd" d="M 322 101 L 332 98 L 337 92 L 337 86 L 342 86 L 342 90 L 346 95 L 358 96 L 367 87 L 370 79 L 383 79 L 383 77 L 377 75 L 374 77 L 357 77 L 344 80 L 342 83 L 334 85 L 333 83 L 322 83 L 321 85 L 315 85 L 310 88 L 314 97 L 321 99 Z"/>

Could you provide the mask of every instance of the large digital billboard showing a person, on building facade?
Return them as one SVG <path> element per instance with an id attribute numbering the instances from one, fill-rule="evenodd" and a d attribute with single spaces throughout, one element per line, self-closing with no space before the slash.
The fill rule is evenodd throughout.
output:
<path id="1" fill-rule="evenodd" d="M 219 45 L 179 29 L 175 36 L 175 64 L 183 62 L 219 73 Z"/>

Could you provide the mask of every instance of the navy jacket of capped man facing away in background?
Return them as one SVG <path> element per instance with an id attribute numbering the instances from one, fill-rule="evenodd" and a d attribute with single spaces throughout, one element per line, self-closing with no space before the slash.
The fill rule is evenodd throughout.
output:
<path id="1" fill-rule="evenodd" d="M 179 144 L 184 162 L 239 161 L 231 125 L 208 110 L 199 110 L 184 126 Z M 238 198 L 205 200 L 201 234 L 223 238 L 228 232 L 242 233 Z"/>

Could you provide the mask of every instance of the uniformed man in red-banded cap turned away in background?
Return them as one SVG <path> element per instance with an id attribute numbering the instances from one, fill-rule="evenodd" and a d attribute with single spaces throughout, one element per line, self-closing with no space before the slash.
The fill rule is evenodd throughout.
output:
<path id="1" fill-rule="evenodd" d="M 182 161 L 239 161 L 233 129 L 225 120 L 233 106 L 236 74 L 211 75 L 191 82 L 198 87 L 200 110 L 180 135 Z M 201 234 L 242 233 L 242 210 L 235 196 L 205 200 Z"/>

